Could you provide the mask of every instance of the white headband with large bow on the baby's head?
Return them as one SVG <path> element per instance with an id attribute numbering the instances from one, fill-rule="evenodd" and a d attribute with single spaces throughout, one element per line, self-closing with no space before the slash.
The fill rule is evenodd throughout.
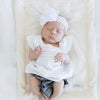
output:
<path id="1" fill-rule="evenodd" d="M 43 12 L 43 15 L 40 17 L 40 25 L 44 26 L 47 22 L 57 21 L 62 23 L 65 26 L 65 30 L 68 30 L 68 22 L 62 16 L 59 16 L 59 12 L 54 8 L 48 8 Z"/>

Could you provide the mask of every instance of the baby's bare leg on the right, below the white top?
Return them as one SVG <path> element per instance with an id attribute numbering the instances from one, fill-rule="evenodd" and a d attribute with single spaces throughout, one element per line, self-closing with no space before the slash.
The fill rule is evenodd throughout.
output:
<path id="1" fill-rule="evenodd" d="M 60 96 L 63 93 L 63 86 L 63 80 L 60 82 L 54 82 L 54 92 L 53 95 L 50 98 L 48 98 L 48 100 L 55 100 L 56 97 Z"/>

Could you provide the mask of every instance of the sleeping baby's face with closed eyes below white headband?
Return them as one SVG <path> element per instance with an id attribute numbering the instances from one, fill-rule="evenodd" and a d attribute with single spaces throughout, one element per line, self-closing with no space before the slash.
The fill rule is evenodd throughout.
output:
<path id="1" fill-rule="evenodd" d="M 58 43 L 65 35 L 65 27 L 60 22 L 47 22 L 42 28 L 41 34 L 46 43 Z"/>

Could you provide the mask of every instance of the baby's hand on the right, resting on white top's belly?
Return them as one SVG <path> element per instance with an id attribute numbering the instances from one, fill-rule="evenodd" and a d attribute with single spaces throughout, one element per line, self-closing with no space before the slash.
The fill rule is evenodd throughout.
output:
<path id="1" fill-rule="evenodd" d="M 69 63 L 70 61 L 70 58 L 68 57 L 67 54 L 64 54 L 64 53 L 58 53 L 56 56 L 55 56 L 55 62 L 61 62 L 61 65 L 64 63 L 64 64 L 67 64 Z"/>

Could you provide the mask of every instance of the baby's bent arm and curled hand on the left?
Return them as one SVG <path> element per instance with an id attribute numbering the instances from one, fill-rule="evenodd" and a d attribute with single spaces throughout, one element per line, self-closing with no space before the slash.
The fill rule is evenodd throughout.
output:
<path id="1" fill-rule="evenodd" d="M 37 46 L 35 49 L 30 49 L 28 58 L 30 60 L 36 60 L 42 51 L 41 46 Z"/>

